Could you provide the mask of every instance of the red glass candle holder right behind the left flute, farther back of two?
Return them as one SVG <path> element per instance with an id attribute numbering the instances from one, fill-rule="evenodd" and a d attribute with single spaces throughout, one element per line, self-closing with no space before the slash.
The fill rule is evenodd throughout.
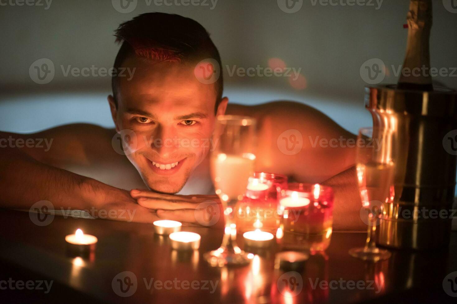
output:
<path id="1" fill-rule="evenodd" d="M 285 175 L 255 172 L 249 179 L 243 200 L 235 208 L 238 232 L 260 229 L 276 233 L 281 219 L 277 213 L 277 198 L 285 187 Z"/>

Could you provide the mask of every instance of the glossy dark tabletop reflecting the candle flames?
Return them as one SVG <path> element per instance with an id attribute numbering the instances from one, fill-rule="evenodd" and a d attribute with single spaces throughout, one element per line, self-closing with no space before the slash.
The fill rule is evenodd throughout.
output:
<path id="1" fill-rule="evenodd" d="M 66 253 L 64 237 L 77 228 L 99 240 L 95 254 L 85 259 Z M 48 294 L 42 290 L 0 290 L 0 297 L 6 294 L 48 303 L 86 298 L 90 302 L 117 303 L 457 302 L 443 290 L 443 279 L 457 271 L 455 232 L 449 250 L 393 251 L 392 258 L 376 264 L 347 253 L 363 245 L 365 232 L 334 232 L 326 253 L 311 256 L 304 270 L 293 273 L 274 269 L 275 248 L 258 252 L 246 267 L 211 268 L 202 254 L 218 247 L 223 231 L 196 227 L 182 230 L 202 236 L 198 251 L 172 250 L 167 237 L 154 235 L 152 224 L 55 216 L 51 224 L 38 227 L 26 212 L 0 210 L 0 280 L 11 276 L 16 280 L 54 280 Z M 120 277 L 116 276 L 124 271 L 137 278 L 136 291 L 129 297 L 115 292 L 121 292 Z M 121 281 L 132 284 L 132 279 L 125 281 L 122 277 Z M 165 285 L 154 288 L 155 281 Z M 189 281 L 189 285 L 182 285 L 183 281 Z M 197 283 L 192 288 L 192 281 L 198 281 L 200 287 L 206 284 L 205 288 L 197 288 Z M 325 286 L 326 282 L 331 288 Z"/>

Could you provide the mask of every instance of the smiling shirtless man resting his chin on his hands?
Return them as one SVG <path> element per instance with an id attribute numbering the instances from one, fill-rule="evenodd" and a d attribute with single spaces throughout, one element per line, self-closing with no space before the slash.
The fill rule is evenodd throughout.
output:
<path id="1" fill-rule="evenodd" d="M 361 227 L 354 148 L 326 148 L 308 140 L 354 139 L 352 134 L 299 103 L 228 104 L 222 73 L 214 82 L 199 74 L 211 62 L 222 64 L 207 31 L 189 18 L 139 15 L 122 23 L 116 37 L 122 45 L 114 68 L 133 71 L 131 79 L 112 78 L 108 102 L 116 129 L 70 124 L 36 134 L 0 133 L 0 139 L 53 139 L 48 152 L 0 149 L 0 206 L 28 209 L 46 200 L 56 209 L 128 210 L 135 222 L 166 218 L 196 223 L 196 206 L 218 201 L 208 152 L 215 144 L 216 116 L 225 113 L 257 119 L 256 170 L 334 186 L 334 228 Z M 291 132 L 302 136 L 300 143 Z M 282 140 L 303 146 L 289 155 L 280 148 Z M 121 147 L 127 157 L 117 153 Z"/>

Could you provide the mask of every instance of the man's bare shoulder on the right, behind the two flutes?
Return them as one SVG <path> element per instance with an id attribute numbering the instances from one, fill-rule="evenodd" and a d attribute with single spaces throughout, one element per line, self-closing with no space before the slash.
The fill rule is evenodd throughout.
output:
<path id="1" fill-rule="evenodd" d="M 323 181 L 353 165 L 353 149 L 320 145 L 354 135 L 319 110 L 303 103 L 275 101 L 254 106 L 228 104 L 228 114 L 254 117 L 258 124 L 258 170 L 272 170 L 302 181 Z"/>

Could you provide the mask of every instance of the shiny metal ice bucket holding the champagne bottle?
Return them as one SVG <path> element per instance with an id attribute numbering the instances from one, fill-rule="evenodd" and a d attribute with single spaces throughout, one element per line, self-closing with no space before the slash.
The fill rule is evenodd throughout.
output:
<path id="1" fill-rule="evenodd" d="M 457 92 L 448 88 L 408 91 L 387 85 L 367 87 L 365 93 L 373 127 L 393 129 L 400 143 L 395 196 L 384 204 L 378 245 L 446 247 L 456 185 Z"/>

